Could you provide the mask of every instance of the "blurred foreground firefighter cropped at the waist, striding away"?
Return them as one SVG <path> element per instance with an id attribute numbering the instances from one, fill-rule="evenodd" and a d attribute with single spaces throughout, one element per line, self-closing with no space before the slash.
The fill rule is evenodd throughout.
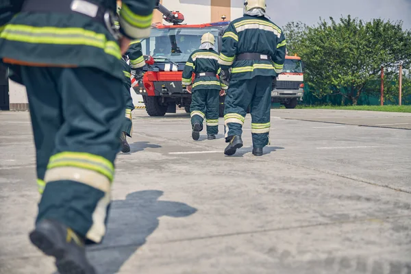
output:
<path id="1" fill-rule="evenodd" d="M 149 37 L 154 2 L 123 0 L 120 29 L 116 2 L 101 0 L 25 0 L 0 22 L 0 58 L 19 68 L 36 147 L 42 197 L 29 238 L 61 274 L 95 273 L 84 245 L 106 230 L 125 109 L 121 56 Z"/>

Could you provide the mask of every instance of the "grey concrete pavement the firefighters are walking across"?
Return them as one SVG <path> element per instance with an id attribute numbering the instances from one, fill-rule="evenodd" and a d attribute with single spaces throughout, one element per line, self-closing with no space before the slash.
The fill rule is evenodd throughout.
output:
<path id="1" fill-rule="evenodd" d="M 411 131 L 346 125 L 379 112 L 272 110 L 261 158 L 249 117 L 245 147 L 225 157 L 222 134 L 190 139 L 186 113 L 133 115 L 108 234 L 88 250 L 99 273 L 411 273 Z M 0 273 L 53 273 L 27 237 L 39 198 L 27 112 L 0 112 L 0 151 Z"/>

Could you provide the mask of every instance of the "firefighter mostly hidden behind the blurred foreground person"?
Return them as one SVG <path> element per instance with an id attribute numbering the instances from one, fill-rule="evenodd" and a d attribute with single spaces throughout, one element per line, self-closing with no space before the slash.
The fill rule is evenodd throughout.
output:
<path id="1" fill-rule="evenodd" d="M 123 97 L 125 99 L 125 118 L 123 119 L 123 126 L 121 128 L 121 151 L 123 153 L 130 152 L 130 146 L 127 142 L 127 136 L 132 138 L 133 135 L 133 119 L 132 111 L 134 110 L 134 104 L 130 90 L 132 88 L 132 75 L 136 81 L 140 81 L 144 75 L 142 67 L 145 66 L 145 60 L 141 51 L 140 40 L 135 40 L 130 43 L 130 47 L 126 54 L 121 59 L 123 64 Z M 130 69 L 131 66 L 131 69 Z"/>

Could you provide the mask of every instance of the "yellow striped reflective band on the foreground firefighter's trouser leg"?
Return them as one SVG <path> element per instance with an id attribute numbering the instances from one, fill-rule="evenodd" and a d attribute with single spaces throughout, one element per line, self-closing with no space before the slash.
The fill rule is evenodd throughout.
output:
<path id="1" fill-rule="evenodd" d="M 75 166 L 97 171 L 112 181 L 114 166 L 109 160 L 91 153 L 64 151 L 51 156 L 47 169 L 61 166 Z"/>

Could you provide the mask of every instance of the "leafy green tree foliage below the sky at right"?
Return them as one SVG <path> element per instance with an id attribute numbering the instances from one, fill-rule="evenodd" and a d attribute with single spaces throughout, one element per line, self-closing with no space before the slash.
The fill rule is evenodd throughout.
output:
<path id="1" fill-rule="evenodd" d="M 411 32 L 401 21 L 329 19 L 311 27 L 301 22 L 284 27 L 288 51 L 301 56 L 305 80 L 317 97 L 340 94 L 356 105 L 362 92 L 375 90 L 369 83 L 378 79 L 381 66 L 388 77 L 399 64 L 410 68 Z"/>

